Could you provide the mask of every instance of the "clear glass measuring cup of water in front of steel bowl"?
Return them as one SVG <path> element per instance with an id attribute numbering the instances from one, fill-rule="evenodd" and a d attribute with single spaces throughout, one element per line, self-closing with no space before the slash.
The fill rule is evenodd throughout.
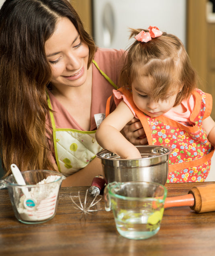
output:
<path id="1" fill-rule="evenodd" d="M 113 210 L 117 231 L 146 239 L 160 230 L 167 189 L 153 182 L 112 182 L 104 189 L 105 210 Z"/>

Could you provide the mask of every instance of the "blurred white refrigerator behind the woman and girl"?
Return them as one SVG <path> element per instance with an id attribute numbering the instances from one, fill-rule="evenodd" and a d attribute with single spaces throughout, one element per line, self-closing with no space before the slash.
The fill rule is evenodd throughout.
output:
<path id="1" fill-rule="evenodd" d="M 177 35 L 186 47 L 186 0 L 92 0 L 94 40 L 99 47 L 125 49 L 129 27 L 150 25 Z"/>

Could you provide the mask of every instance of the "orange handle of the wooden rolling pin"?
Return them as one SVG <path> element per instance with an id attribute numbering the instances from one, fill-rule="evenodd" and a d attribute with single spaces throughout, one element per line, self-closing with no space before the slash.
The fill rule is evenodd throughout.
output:
<path id="1" fill-rule="evenodd" d="M 175 206 L 194 206 L 195 199 L 192 194 L 183 196 L 167 197 L 164 203 L 164 208 L 170 208 Z"/>

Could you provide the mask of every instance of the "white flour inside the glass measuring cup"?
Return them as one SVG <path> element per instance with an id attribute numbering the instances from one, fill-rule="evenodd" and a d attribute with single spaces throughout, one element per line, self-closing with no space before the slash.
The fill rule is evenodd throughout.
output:
<path id="1" fill-rule="evenodd" d="M 25 195 L 20 197 L 19 203 L 17 202 L 17 210 L 21 220 L 43 221 L 51 218 L 55 214 L 59 183 L 53 181 L 57 179 L 59 179 L 58 175 L 51 175 L 38 182 L 38 186 L 33 187 L 31 191 L 29 191 L 29 197 L 36 200 L 36 205 L 34 207 L 25 205 Z"/>

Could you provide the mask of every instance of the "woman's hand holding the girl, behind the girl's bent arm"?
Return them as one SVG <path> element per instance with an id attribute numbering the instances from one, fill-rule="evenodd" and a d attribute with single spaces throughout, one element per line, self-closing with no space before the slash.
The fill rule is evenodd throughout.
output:
<path id="1" fill-rule="evenodd" d="M 139 119 L 135 117 L 125 125 L 121 133 L 133 145 L 139 146 L 148 144 L 143 126 Z"/>

